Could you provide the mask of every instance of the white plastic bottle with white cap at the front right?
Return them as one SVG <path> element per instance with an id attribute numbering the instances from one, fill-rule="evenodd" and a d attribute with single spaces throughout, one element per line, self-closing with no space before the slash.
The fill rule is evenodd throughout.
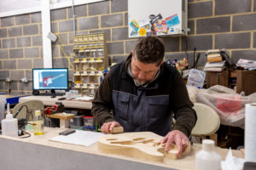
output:
<path id="1" fill-rule="evenodd" d="M 196 170 L 220 170 L 221 156 L 214 150 L 214 141 L 204 139 L 202 150 L 195 154 Z"/>

